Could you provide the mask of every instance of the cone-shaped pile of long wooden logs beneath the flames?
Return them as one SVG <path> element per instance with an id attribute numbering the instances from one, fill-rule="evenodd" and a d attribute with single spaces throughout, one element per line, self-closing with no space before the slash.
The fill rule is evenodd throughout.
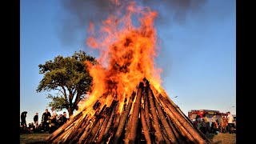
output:
<path id="1" fill-rule="evenodd" d="M 46 143 L 209 143 L 200 130 L 148 81 L 124 102 L 96 101 L 46 138 Z M 122 113 L 118 107 L 122 106 Z"/>

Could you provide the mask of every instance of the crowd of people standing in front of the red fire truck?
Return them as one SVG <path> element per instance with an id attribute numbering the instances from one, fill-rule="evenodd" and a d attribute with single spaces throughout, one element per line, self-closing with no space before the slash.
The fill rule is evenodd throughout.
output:
<path id="1" fill-rule="evenodd" d="M 209 119 L 206 114 L 200 118 L 199 115 L 195 118 L 194 126 L 201 130 L 203 134 L 222 134 L 222 133 L 235 133 L 236 127 L 234 126 L 234 117 L 230 112 L 227 112 L 227 116 L 217 118 L 216 114 Z M 210 124 L 211 123 L 211 124 Z"/>

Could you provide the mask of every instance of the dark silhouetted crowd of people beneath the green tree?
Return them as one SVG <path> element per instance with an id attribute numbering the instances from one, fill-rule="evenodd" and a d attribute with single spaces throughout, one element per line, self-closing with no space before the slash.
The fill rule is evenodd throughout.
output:
<path id="1" fill-rule="evenodd" d="M 54 130 L 57 130 L 60 126 L 66 123 L 69 118 L 66 118 L 66 112 L 63 114 L 57 114 L 53 112 L 50 114 L 48 109 L 42 114 L 41 123 L 38 122 L 38 113 L 34 115 L 34 122 L 26 124 L 26 114 L 27 111 L 23 111 L 21 114 L 21 124 L 20 124 L 20 133 L 53 133 Z"/>

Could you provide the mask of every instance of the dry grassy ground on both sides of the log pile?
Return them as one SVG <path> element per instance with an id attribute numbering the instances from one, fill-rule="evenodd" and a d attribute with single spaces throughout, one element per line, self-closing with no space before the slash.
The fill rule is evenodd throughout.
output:
<path id="1" fill-rule="evenodd" d="M 20 143 L 33 143 L 42 144 L 44 139 L 50 134 L 20 134 Z M 234 144 L 236 143 L 236 134 L 207 134 L 206 137 L 210 140 L 211 144 Z"/>

